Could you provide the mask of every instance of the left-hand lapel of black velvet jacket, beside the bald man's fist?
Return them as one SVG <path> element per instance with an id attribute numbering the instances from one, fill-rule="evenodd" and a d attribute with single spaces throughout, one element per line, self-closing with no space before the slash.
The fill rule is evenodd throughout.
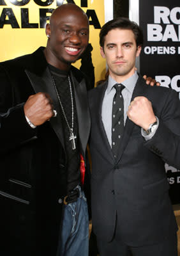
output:
<path id="1" fill-rule="evenodd" d="M 50 75 L 50 70 L 48 67 L 41 72 L 41 76 L 38 76 L 38 74 L 34 74 L 34 72 L 31 72 L 29 70 L 25 71 L 27 74 L 27 77 L 29 77 L 29 81 L 31 82 L 34 92 L 45 92 L 48 93 L 52 99 L 54 109 L 57 111 L 56 118 L 50 118 L 50 124 L 52 125 L 52 128 L 57 134 L 57 137 L 61 141 L 61 144 L 64 147 L 64 138 L 63 138 L 63 127 L 61 122 L 61 110 L 59 106 L 59 102 L 57 99 L 57 93 L 54 88 L 54 83 L 52 81 L 52 77 Z"/>

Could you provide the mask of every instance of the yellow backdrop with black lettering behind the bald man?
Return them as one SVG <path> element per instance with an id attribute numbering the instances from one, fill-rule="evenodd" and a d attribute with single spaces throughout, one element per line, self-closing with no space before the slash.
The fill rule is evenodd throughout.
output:
<path id="1" fill-rule="evenodd" d="M 89 43 L 96 81 L 105 74 L 100 56 L 99 33 L 105 21 L 113 19 L 113 0 L 0 0 L 0 61 L 31 53 L 47 44 L 45 25 L 61 4 L 80 6 L 90 22 Z M 81 61 L 74 64 L 79 68 Z"/>

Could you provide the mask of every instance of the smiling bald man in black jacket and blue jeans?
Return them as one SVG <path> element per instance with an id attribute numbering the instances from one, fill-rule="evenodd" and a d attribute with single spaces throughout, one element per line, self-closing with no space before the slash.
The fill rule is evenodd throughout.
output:
<path id="1" fill-rule="evenodd" d="M 86 13 L 60 6 L 46 34 L 46 48 L 0 64 L 2 256 L 88 254 L 90 117 L 71 66 L 88 43 Z"/>

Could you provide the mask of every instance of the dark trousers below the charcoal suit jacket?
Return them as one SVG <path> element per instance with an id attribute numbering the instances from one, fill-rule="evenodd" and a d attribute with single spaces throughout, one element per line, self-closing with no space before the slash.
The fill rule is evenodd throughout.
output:
<path id="1" fill-rule="evenodd" d="M 100 256 L 177 256 L 177 234 L 158 244 L 137 247 L 117 241 L 116 237 L 110 243 L 98 239 L 98 249 Z"/>

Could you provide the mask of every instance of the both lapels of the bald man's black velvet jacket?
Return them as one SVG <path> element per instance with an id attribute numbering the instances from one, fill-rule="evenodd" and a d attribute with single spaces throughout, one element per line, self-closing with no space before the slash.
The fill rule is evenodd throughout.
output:
<path id="1" fill-rule="evenodd" d="M 56 90 L 54 88 L 54 83 L 52 81 L 52 76 L 43 54 L 44 49 L 44 47 L 40 47 L 40 49 L 32 54 L 33 63 L 31 63 L 29 68 L 26 69 L 26 74 L 33 86 L 34 92 L 49 93 L 54 104 L 54 109 L 57 111 L 56 118 L 50 118 L 49 122 L 64 147 L 63 125 L 60 116 L 61 109 L 57 99 Z M 75 91 L 80 142 L 82 150 L 85 152 L 91 125 L 89 108 L 87 106 L 86 82 L 84 78 L 80 76 L 80 72 L 77 72 L 77 68 L 74 67 L 71 67 L 71 77 L 73 79 Z"/>

